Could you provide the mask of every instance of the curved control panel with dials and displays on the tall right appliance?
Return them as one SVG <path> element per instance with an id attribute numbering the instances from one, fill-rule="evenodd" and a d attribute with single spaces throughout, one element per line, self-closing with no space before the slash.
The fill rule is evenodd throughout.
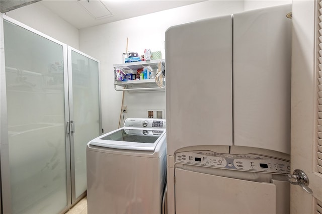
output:
<path id="1" fill-rule="evenodd" d="M 176 163 L 199 166 L 290 174 L 290 162 L 257 154 L 224 154 L 213 151 L 190 151 L 175 154 Z"/>

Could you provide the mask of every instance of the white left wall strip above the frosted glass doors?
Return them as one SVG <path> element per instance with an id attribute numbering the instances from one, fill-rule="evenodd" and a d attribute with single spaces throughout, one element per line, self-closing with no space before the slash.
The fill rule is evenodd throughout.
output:
<path id="1" fill-rule="evenodd" d="M 41 2 L 7 12 L 6 15 L 78 49 L 78 29 L 48 10 Z"/>

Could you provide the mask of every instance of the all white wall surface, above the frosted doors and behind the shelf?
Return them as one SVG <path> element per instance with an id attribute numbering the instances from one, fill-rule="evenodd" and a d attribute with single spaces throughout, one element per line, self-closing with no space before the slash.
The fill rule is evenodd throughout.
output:
<path id="1" fill-rule="evenodd" d="M 165 57 L 165 31 L 173 25 L 231 13 L 291 3 L 287 1 L 206 1 L 92 28 L 78 30 L 45 8 L 41 2 L 8 12 L 7 15 L 101 61 L 102 122 L 105 132 L 118 127 L 122 92 L 114 90 L 113 64 L 122 62 L 126 49 L 142 54 L 160 50 Z M 78 34 L 79 33 L 79 34 Z M 79 37 L 78 37 L 79 36 Z M 145 117 L 146 109 L 165 109 L 165 93 L 125 93 L 125 117 Z M 144 108 L 142 107 L 144 106 Z"/>

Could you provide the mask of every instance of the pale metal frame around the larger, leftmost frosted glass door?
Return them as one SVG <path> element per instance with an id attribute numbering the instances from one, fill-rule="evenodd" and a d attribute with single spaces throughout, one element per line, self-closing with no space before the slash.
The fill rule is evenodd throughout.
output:
<path id="1" fill-rule="evenodd" d="M 65 108 L 65 123 L 69 120 L 69 102 L 68 102 L 68 67 L 67 67 L 67 45 L 44 34 L 41 33 L 15 19 L 12 19 L 6 15 L 2 15 L 3 19 L 1 20 L 1 28 L 3 30 L 3 22 L 9 21 L 19 27 L 22 27 L 30 32 L 33 32 L 45 39 L 48 39 L 58 45 L 62 46 L 63 51 L 63 72 L 64 72 L 64 108 Z M 1 42 L 4 43 L 4 31 L 1 32 Z M 3 45 L 3 44 L 2 44 Z M 2 53 L 4 53 L 4 49 L 1 49 Z M 12 213 L 12 201 L 11 201 L 11 182 L 10 182 L 10 165 L 9 165 L 9 139 L 8 139 L 8 123 L 7 123 L 7 92 L 6 92 L 6 67 L 4 56 L 1 56 L 1 71 L 0 71 L 0 89 L 1 89 L 1 97 L 0 97 L 0 117 L 1 117 L 1 150 L 0 150 L 0 158 L 1 158 L 1 184 L 2 184 L 2 208 L 3 213 Z M 65 149 L 66 149 L 66 194 L 67 201 L 64 210 L 68 210 L 68 207 L 71 206 L 71 168 L 70 168 L 70 141 L 69 135 L 67 134 L 67 130 L 65 130 Z M 3 197 L 6 195 L 6 197 Z M 64 210 L 62 210 L 64 212 Z"/>

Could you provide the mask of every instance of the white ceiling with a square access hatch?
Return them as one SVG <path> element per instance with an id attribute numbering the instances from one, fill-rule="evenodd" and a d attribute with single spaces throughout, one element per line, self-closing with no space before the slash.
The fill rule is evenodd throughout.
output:
<path id="1" fill-rule="evenodd" d="M 191 5 L 198 0 L 42 0 L 42 4 L 77 29 Z M 91 14 L 92 13 L 92 14 Z"/>

